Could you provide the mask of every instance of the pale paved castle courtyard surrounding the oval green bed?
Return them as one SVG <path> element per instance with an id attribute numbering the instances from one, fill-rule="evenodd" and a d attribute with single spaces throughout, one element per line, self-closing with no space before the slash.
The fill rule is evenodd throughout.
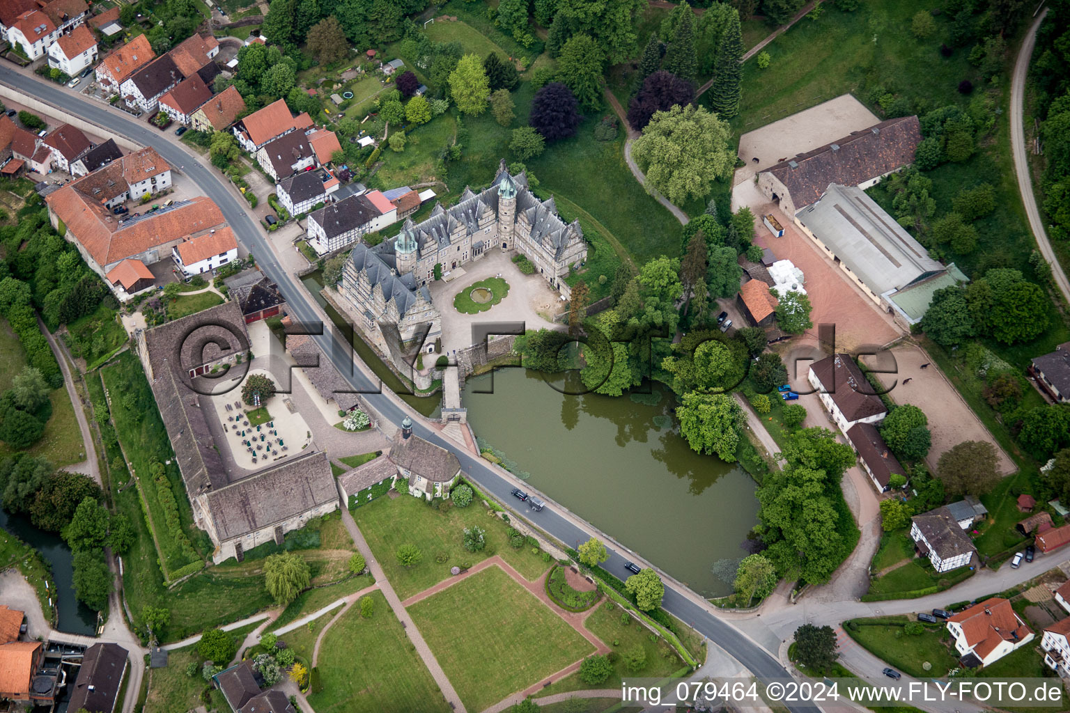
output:
<path id="1" fill-rule="evenodd" d="M 472 345 L 472 326 L 500 322 L 523 322 L 526 329 L 552 329 L 552 315 L 565 310 L 557 291 L 540 275 L 524 275 L 511 261 L 513 253 L 488 250 L 480 260 L 464 263 L 464 274 L 456 279 L 428 285 L 431 299 L 442 314 L 442 348 L 446 354 Z M 501 276 L 509 283 L 509 294 L 486 312 L 464 314 L 454 309 L 454 297 L 473 282 Z M 561 325 L 556 325 L 561 326 Z"/>

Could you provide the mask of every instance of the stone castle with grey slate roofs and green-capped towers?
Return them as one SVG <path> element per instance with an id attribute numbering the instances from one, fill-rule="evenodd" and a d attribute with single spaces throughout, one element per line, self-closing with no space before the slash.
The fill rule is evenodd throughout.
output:
<path id="1" fill-rule="evenodd" d="M 423 340 L 427 344 L 441 335 L 442 320 L 427 289 L 435 266 L 447 273 L 491 248 L 524 255 L 566 298 L 571 290 L 564 278 L 587 257 L 579 222 L 562 220 L 553 198 L 539 200 L 528 176 L 510 175 L 503 159 L 485 190 L 465 188 L 453 207 L 435 205 L 427 220 L 407 220 L 396 237 L 374 247 L 357 244 L 338 291 L 362 317 L 362 330 L 381 347 L 384 326 L 397 327 L 402 342 L 410 342 L 417 325 L 431 323 Z"/>

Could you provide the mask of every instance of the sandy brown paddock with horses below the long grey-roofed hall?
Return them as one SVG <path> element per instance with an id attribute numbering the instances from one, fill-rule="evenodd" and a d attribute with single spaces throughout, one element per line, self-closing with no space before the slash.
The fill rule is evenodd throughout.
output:
<path id="1" fill-rule="evenodd" d="M 890 389 L 888 396 L 896 403 L 914 404 L 929 417 L 933 445 L 926 462 L 930 467 L 935 467 L 942 454 L 963 440 L 987 440 L 996 449 L 999 472 L 1008 475 L 1014 471 L 1013 461 L 999 448 L 996 439 L 962 400 L 939 367 L 931 363 L 932 359 L 921 347 L 911 343 L 898 344 L 892 347 L 891 354 L 896 357 L 898 373 L 878 374 L 877 378 L 885 388 Z M 863 363 L 870 362 L 867 357 L 861 360 Z M 923 363 L 930 366 L 921 369 Z M 911 381 L 903 384 L 907 378 Z"/>

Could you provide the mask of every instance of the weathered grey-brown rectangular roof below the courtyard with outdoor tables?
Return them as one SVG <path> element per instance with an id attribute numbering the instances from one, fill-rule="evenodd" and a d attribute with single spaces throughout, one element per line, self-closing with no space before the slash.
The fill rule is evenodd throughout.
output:
<path id="1" fill-rule="evenodd" d="M 314 451 L 284 459 L 205 497 L 216 534 L 225 542 L 337 500 L 338 491 L 326 453 Z"/>

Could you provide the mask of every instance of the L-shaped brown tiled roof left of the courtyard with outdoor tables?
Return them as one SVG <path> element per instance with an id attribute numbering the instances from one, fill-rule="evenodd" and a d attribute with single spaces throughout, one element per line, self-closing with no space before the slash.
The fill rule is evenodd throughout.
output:
<path id="1" fill-rule="evenodd" d="M 249 348 L 241 310 L 227 301 L 153 327 L 144 332 L 144 340 L 152 367 L 147 376 L 189 497 L 225 486 L 223 456 L 215 449 L 205 416 L 208 400 L 202 404 L 201 396 L 193 390 L 189 369 Z"/>

